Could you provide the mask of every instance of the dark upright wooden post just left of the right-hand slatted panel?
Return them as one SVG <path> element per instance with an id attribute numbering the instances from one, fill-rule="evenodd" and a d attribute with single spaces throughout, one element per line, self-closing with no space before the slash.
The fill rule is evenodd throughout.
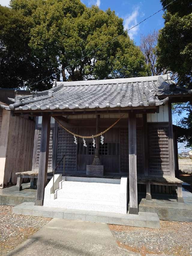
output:
<path id="1" fill-rule="evenodd" d="M 147 138 L 147 114 L 143 114 L 143 172 L 149 175 L 148 138 Z"/>

